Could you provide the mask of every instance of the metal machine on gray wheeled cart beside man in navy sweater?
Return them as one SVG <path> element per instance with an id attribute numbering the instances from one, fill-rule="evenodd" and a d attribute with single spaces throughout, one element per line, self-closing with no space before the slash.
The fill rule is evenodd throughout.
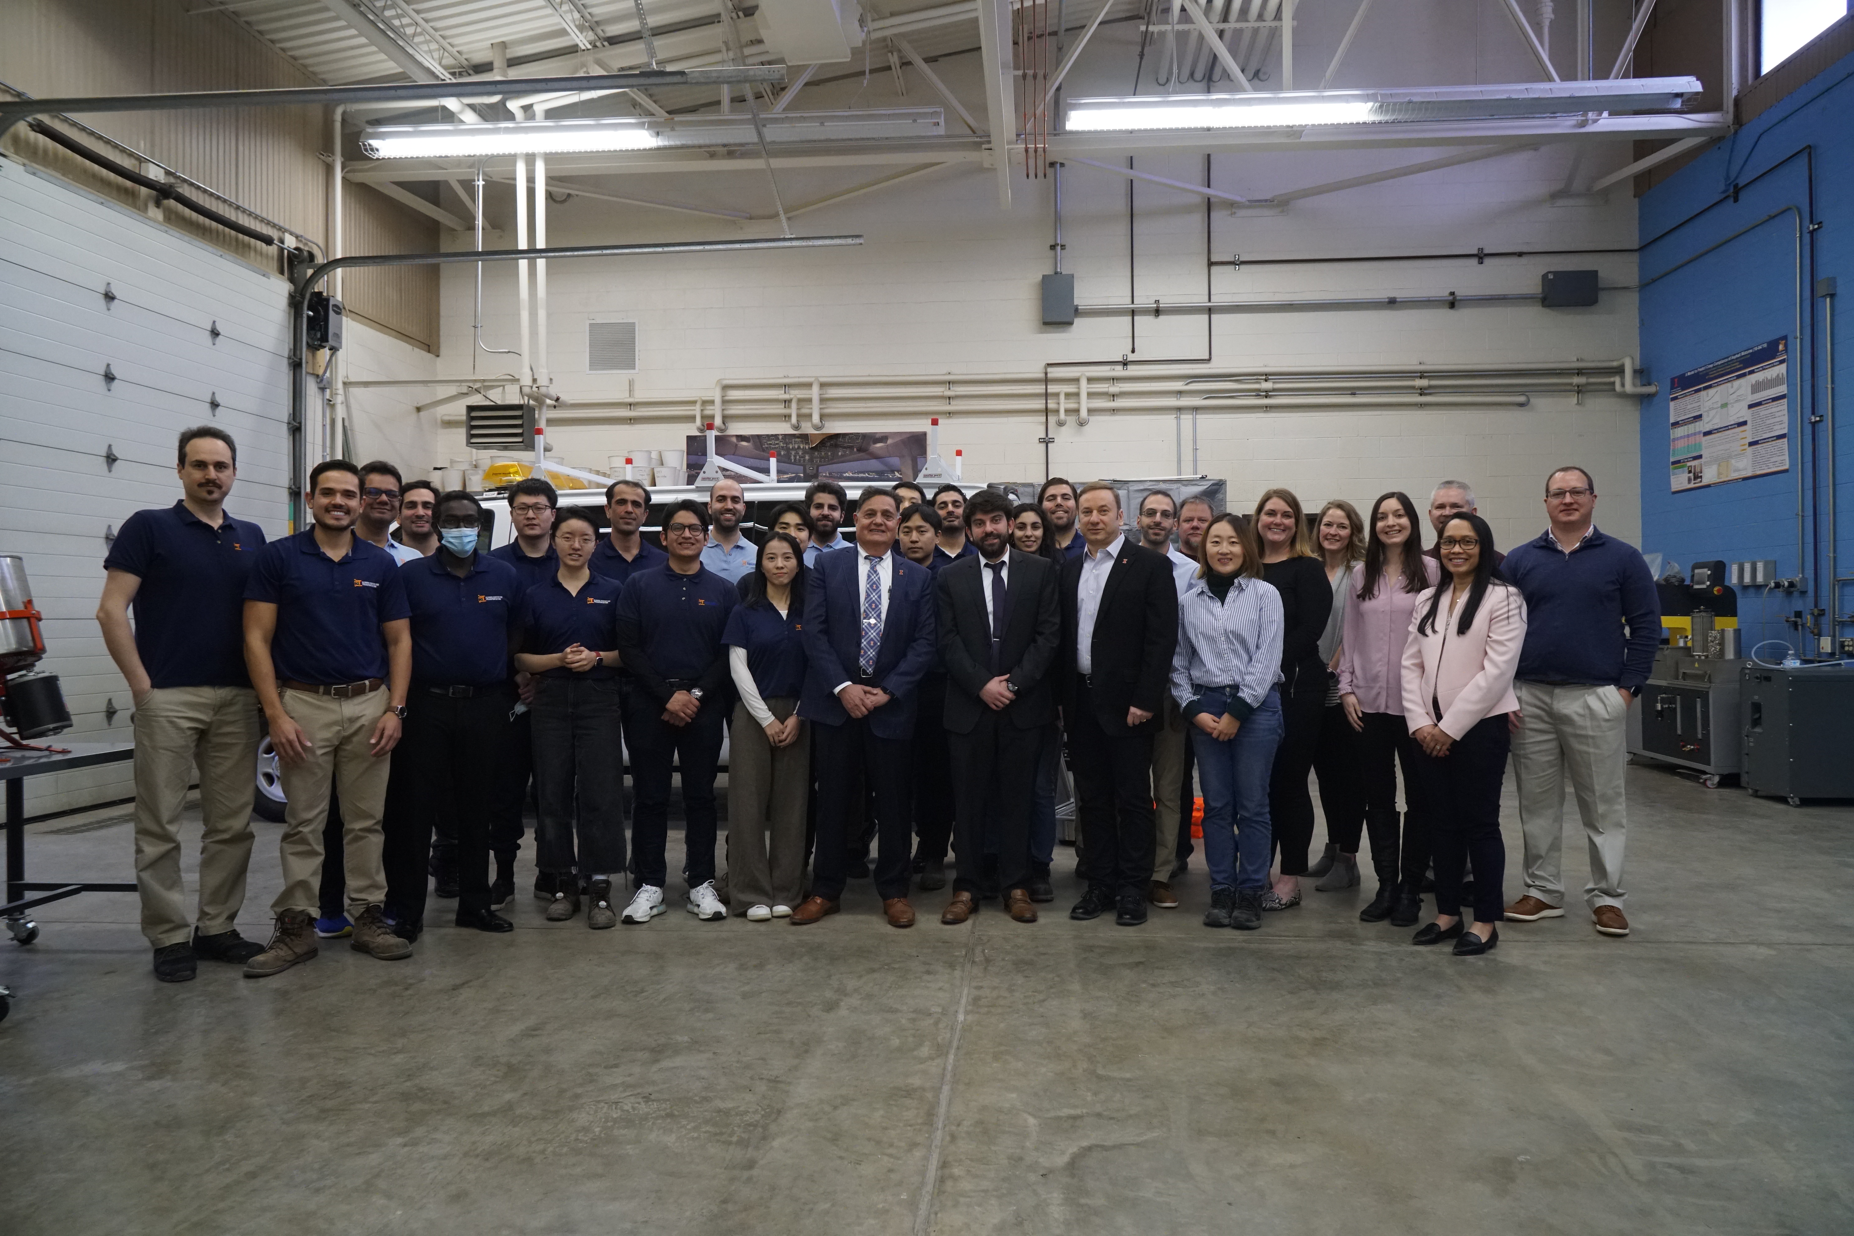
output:
<path id="1" fill-rule="evenodd" d="M 1693 580 L 1661 580 L 1661 626 L 1641 704 L 1628 713 L 1632 756 L 1700 775 L 1711 789 L 1739 771 L 1737 593 L 1722 561 L 1693 565 Z"/>

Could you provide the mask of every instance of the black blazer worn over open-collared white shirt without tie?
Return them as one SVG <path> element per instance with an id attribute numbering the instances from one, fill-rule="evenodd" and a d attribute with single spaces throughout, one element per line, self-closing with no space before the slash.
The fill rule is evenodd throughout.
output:
<path id="1" fill-rule="evenodd" d="M 1081 630 L 1083 554 L 1062 563 L 1062 706 L 1075 700 L 1075 636 Z M 1177 650 L 1177 586 L 1172 560 L 1127 537 L 1107 573 L 1090 643 L 1094 713 L 1107 734 L 1129 734 L 1127 708 L 1159 717 Z M 1148 723 L 1153 725 L 1153 723 Z"/>

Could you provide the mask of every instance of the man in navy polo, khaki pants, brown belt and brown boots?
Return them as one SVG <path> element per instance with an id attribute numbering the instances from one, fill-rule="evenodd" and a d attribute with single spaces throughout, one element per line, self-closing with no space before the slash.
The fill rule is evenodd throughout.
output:
<path id="1" fill-rule="evenodd" d="M 380 813 L 412 680 L 412 634 L 399 563 L 354 536 L 360 469 L 326 460 L 310 473 L 313 526 L 258 554 L 245 586 L 245 665 L 271 723 L 284 795 L 284 888 L 271 945 L 245 965 L 261 978 L 315 956 L 328 791 L 341 793 L 350 945 L 412 956 L 382 904 Z"/>

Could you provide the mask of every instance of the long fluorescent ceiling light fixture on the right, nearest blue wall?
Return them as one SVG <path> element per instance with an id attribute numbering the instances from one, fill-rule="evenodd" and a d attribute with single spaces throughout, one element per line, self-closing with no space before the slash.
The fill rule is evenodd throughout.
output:
<path id="1" fill-rule="evenodd" d="M 1698 78 L 1522 82 L 1402 91 L 1135 95 L 1070 100 L 1072 133 L 1137 130 L 1314 128 L 1396 120 L 1492 120 L 1585 111 L 1680 111 Z"/>

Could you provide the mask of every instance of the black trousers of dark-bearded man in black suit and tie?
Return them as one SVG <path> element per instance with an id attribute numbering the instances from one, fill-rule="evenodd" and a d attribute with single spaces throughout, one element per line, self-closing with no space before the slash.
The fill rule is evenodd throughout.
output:
<path id="1" fill-rule="evenodd" d="M 1009 893 L 1031 878 L 1031 810 L 1042 730 L 1020 730 L 1010 710 L 979 717 L 971 734 L 947 734 L 953 754 L 959 877 L 953 888 L 979 897 L 988 856 L 996 854 L 996 888 Z"/>

